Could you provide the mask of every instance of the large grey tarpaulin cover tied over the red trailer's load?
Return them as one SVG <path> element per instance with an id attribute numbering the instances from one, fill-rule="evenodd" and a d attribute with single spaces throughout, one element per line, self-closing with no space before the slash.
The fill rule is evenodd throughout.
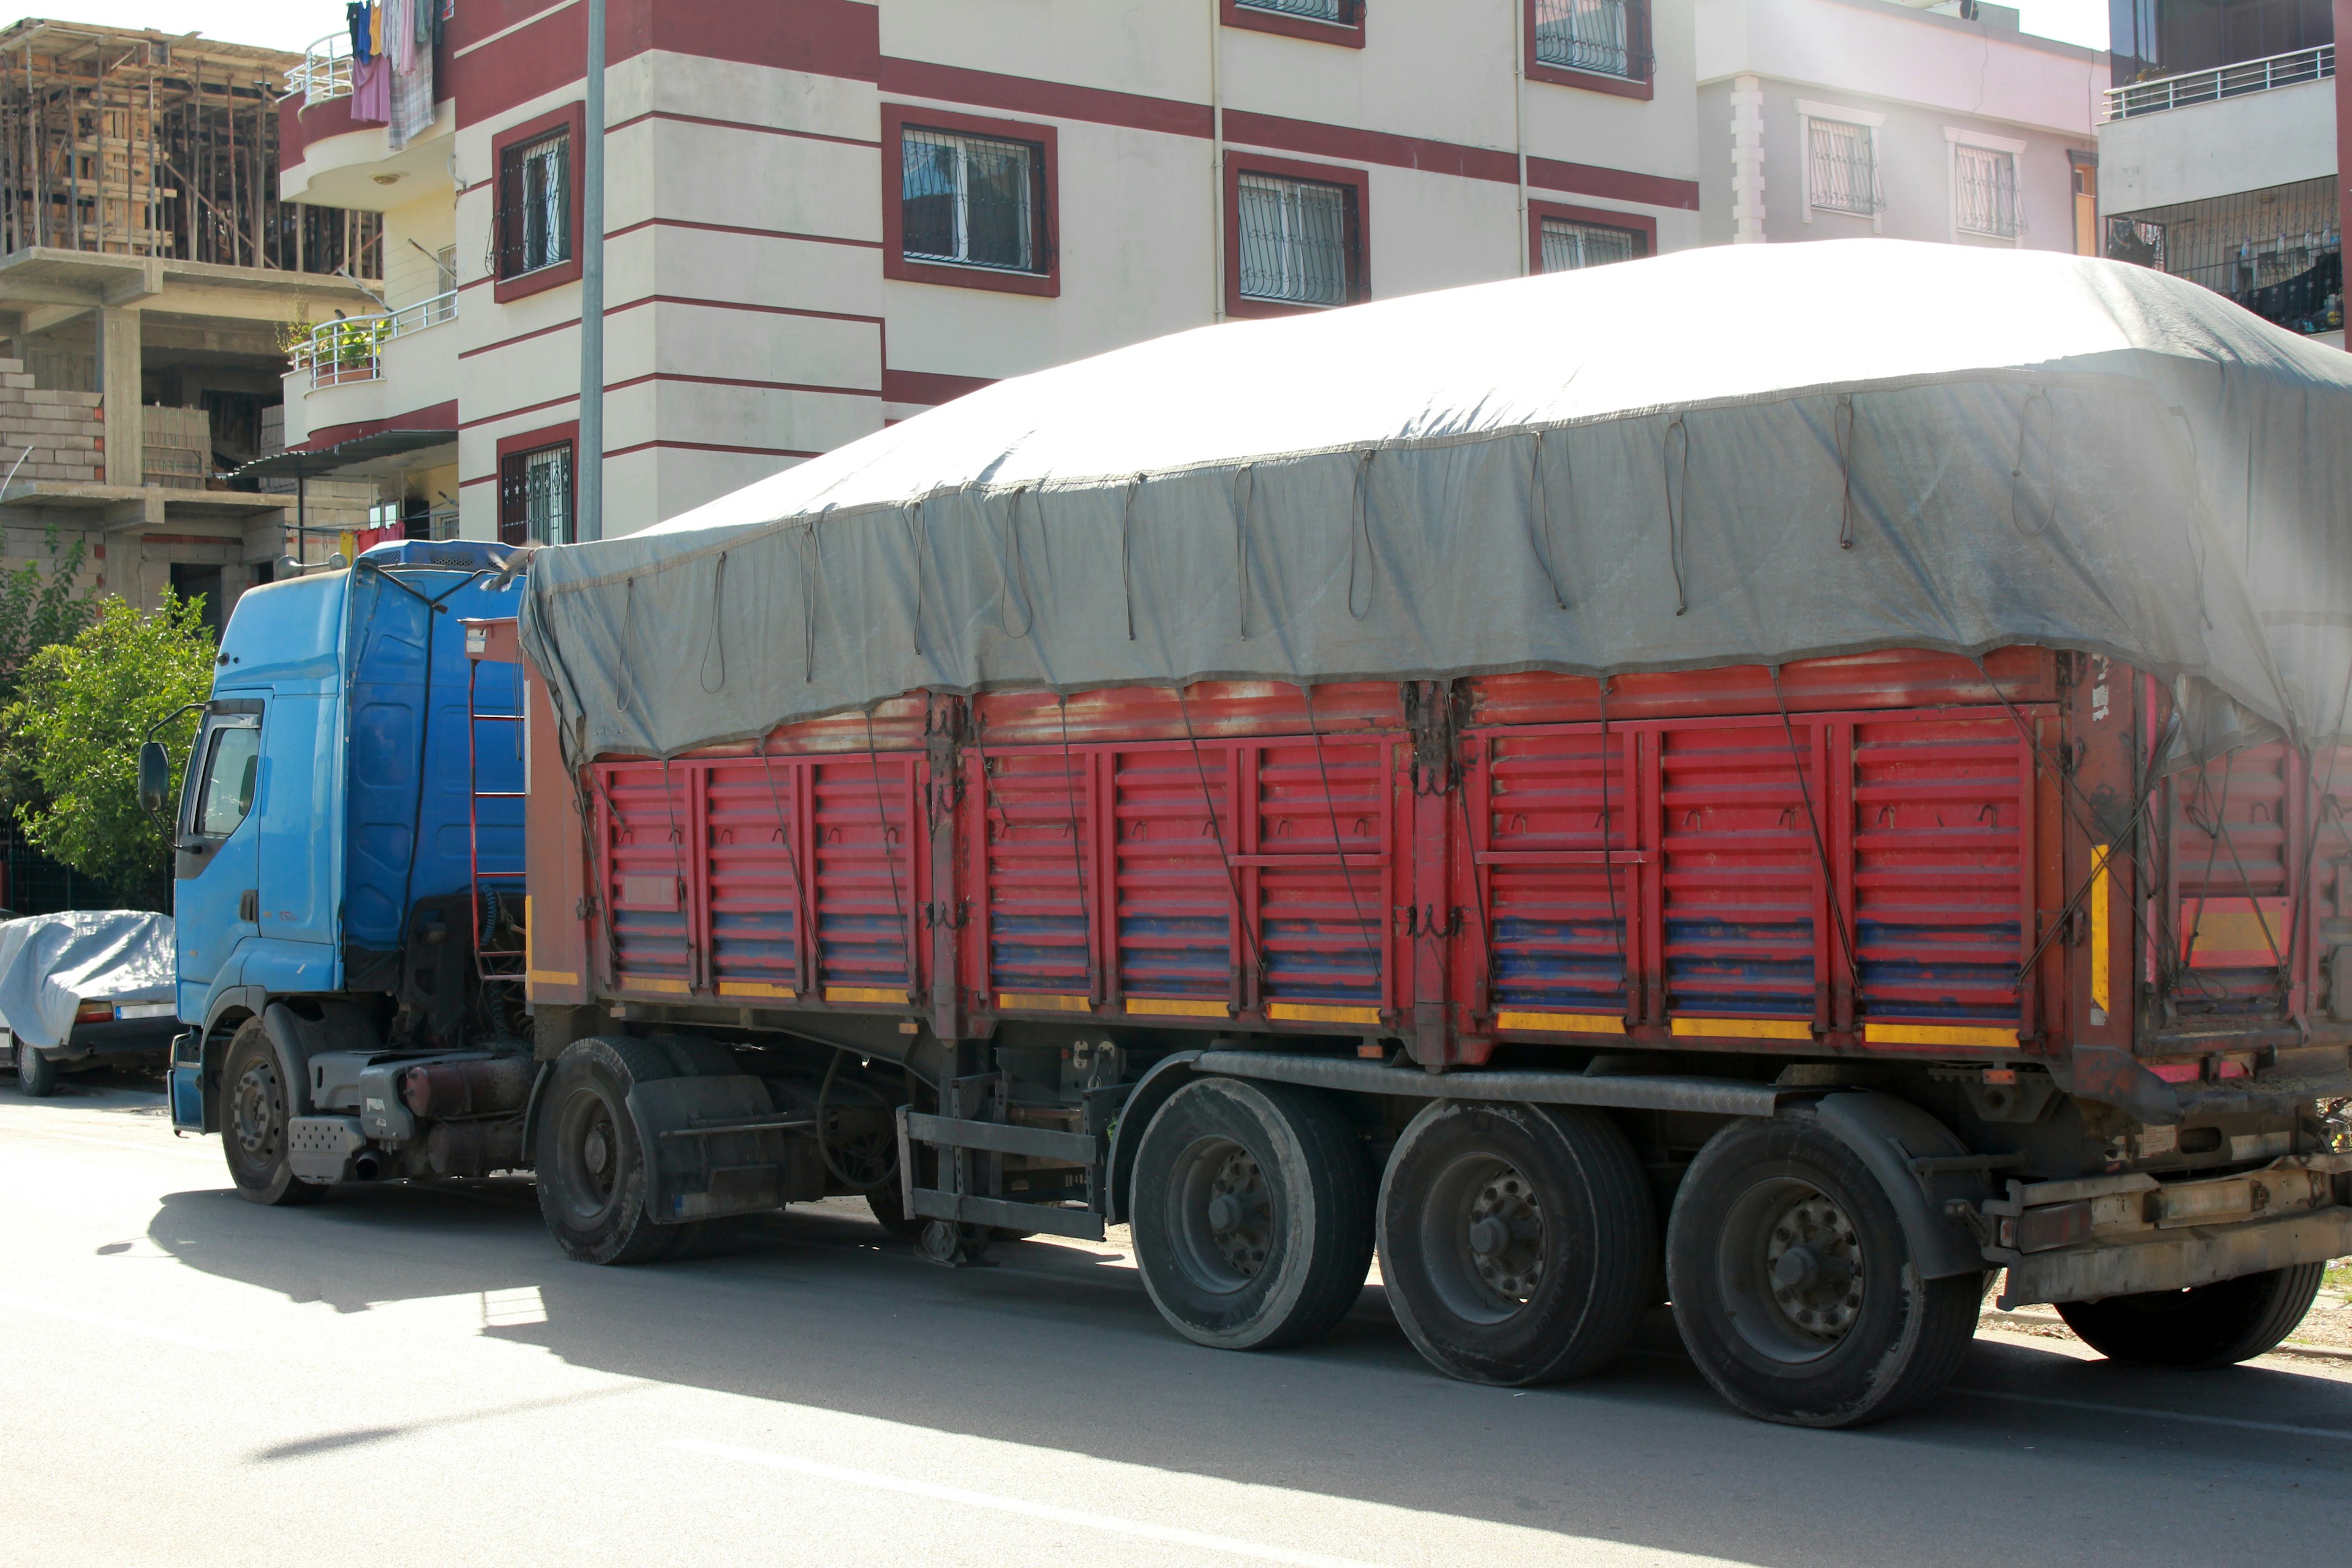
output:
<path id="1" fill-rule="evenodd" d="M 2352 677 L 2347 494 L 2352 355 L 2185 280 L 1722 247 L 1000 381 L 539 552 L 522 632 L 574 759 L 910 689 L 2011 642 L 2307 743 Z"/>

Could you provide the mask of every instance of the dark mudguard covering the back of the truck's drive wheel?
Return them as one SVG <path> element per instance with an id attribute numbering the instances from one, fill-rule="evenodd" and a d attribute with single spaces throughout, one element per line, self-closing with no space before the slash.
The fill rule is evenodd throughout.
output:
<path id="1" fill-rule="evenodd" d="M 724 1220 L 823 1197 L 811 1117 L 783 1117 L 748 1074 L 654 1079 L 628 1091 L 656 1225 Z"/>

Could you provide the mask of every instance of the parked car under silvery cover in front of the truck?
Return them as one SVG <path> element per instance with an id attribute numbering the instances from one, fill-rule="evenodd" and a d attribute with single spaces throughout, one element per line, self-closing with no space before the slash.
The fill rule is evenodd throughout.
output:
<path id="1" fill-rule="evenodd" d="M 28 1095 L 52 1093 L 59 1072 L 167 1060 L 179 1034 L 172 917 L 68 910 L 0 922 L 0 1030 Z"/>

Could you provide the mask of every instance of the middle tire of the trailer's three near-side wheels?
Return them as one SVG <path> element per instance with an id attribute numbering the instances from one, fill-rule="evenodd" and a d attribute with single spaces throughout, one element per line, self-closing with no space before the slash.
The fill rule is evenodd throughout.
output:
<path id="1" fill-rule="evenodd" d="M 1649 1178 L 1597 1110 L 1432 1100 L 1388 1157 L 1381 1281 L 1404 1338 L 1451 1378 L 1597 1371 L 1632 1338 L 1656 1269 Z"/>

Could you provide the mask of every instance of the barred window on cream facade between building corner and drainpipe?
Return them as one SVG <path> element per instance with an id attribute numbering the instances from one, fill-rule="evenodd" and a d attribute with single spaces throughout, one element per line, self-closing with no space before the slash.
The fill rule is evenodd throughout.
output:
<path id="1" fill-rule="evenodd" d="M 901 136 L 901 252 L 1007 273 L 1042 273 L 1044 172 L 1025 141 L 950 132 Z"/>

